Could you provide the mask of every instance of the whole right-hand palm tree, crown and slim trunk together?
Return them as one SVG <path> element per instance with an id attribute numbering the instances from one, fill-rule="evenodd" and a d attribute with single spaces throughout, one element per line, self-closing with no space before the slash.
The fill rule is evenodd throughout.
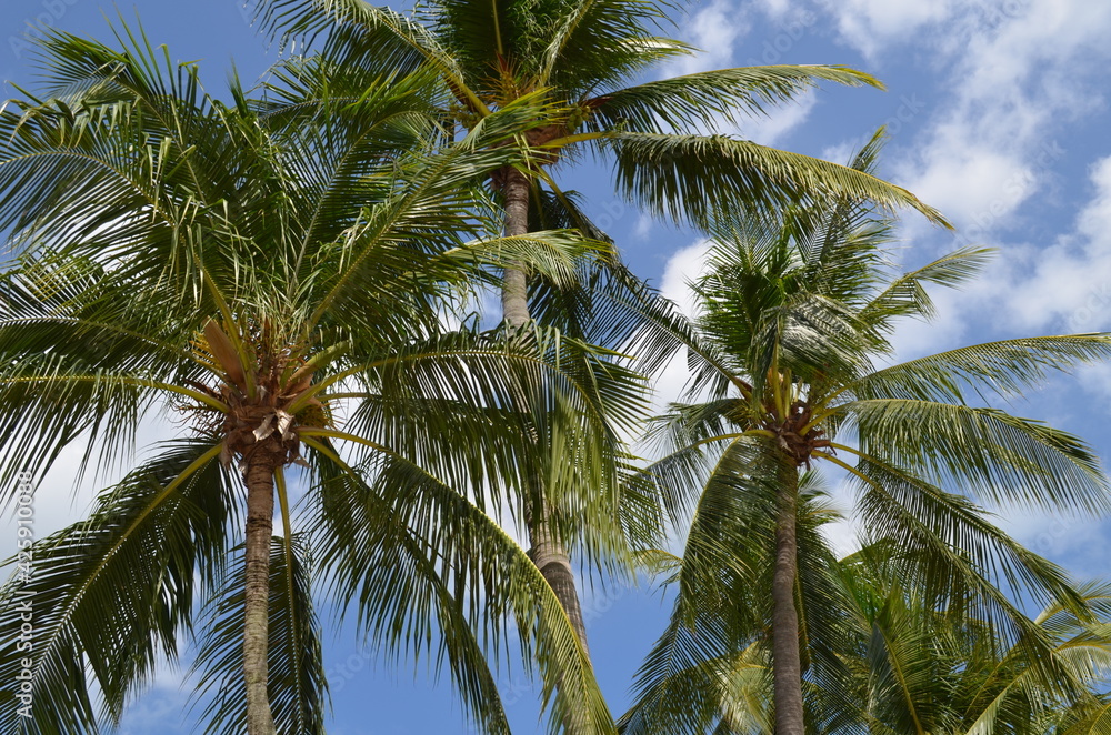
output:
<path id="1" fill-rule="evenodd" d="M 879 145 L 877 135 L 853 165 L 869 170 Z M 817 655 L 815 616 L 828 607 L 820 597 L 808 603 L 811 571 L 801 566 L 799 473 L 813 464 L 847 473 L 869 534 L 915 551 L 902 563 L 920 565 L 931 605 L 968 605 L 1035 646 L 1044 642 L 993 581 L 1083 614 L 1062 572 L 1000 533 L 964 493 L 1105 512 L 1099 462 L 1079 439 L 969 396 L 1018 395 L 1049 371 L 1105 359 L 1111 336 L 1009 340 L 877 368 L 899 319 L 932 313 L 925 286 L 959 285 L 987 256 L 964 249 L 892 276 L 883 260 L 890 228 L 865 202 L 840 198 L 784 209 L 778 223 L 739 219 L 715 230 L 708 274 L 695 285 L 702 312 L 672 330 L 688 344 L 700 402 L 674 404 L 661 420 L 669 454 L 651 476 L 672 523 L 690 532 L 674 631 L 645 664 L 643 692 L 665 676 L 681 648 L 674 636 L 695 622 L 725 640 L 765 622 L 774 731 L 804 732 L 800 640 Z M 760 554 L 774 561 L 758 563 Z M 717 622 L 698 613 L 709 604 L 713 618 L 743 600 L 730 595 L 744 586 L 770 607 Z"/>

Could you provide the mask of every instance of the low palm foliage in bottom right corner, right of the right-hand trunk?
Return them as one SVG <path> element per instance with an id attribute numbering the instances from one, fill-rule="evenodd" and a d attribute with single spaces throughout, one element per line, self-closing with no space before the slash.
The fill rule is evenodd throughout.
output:
<path id="1" fill-rule="evenodd" d="M 857 686 L 821 704 L 854 701 L 855 713 L 841 717 L 854 715 L 873 733 L 951 735 L 1061 732 L 1102 706 L 1098 693 L 1111 671 L 1111 586 L 1077 590 L 1089 616 L 1078 617 L 1069 601 L 1049 602 L 1031 621 L 1044 651 L 1031 655 L 1019 642 L 1001 646 L 987 621 L 960 606 L 929 607 L 917 581 L 897 581 L 898 553 L 873 544 L 832 567 L 850 603 L 848 666 Z"/>

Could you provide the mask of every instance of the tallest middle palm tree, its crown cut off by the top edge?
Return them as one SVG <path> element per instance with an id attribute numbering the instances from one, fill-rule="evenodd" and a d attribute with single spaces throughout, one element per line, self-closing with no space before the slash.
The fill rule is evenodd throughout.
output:
<path id="1" fill-rule="evenodd" d="M 623 87 L 654 64 L 693 52 L 655 34 L 670 22 L 670 6 L 663 2 L 468 0 L 420 4 L 408 16 L 362 0 L 260 0 L 258 6 L 271 31 L 302 38 L 327 31 L 322 56 L 336 64 L 376 73 L 436 69 L 449 97 L 444 114 L 464 130 L 486 124 L 498 112 L 521 113 L 526 124 L 517 144 L 524 161 L 491 172 L 509 236 L 530 230 L 530 211 L 532 221 L 541 221 L 536 212 L 546 201 L 589 226 L 549 173 L 558 161 L 578 157 L 582 147 L 614 159 L 618 188 L 628 198 L 680 221 L 704 224 L 715 212 L 735 207 L 754 210 L 784 197 L 833 191 L 913 207 L 943 222 L 909 192 L 870 173 L 751 141 L 699 134 L 722 121 L 760 114 L 820 81 L 880 87 L 868 74 L 841 67 L 778 66 Z M 359 93 L 336 87 L 333 92 Z M 510 329 L 533 319 L 537 303 L 530 304 L 529 296 L 537 298 L 534 281 L 522 264 L 506 269 L 501 303 Z M 526 509 L 533 557 L 585 644 L 565 534 L 549 523 L 559 509 L 541 491 L 530 492 Z"/>

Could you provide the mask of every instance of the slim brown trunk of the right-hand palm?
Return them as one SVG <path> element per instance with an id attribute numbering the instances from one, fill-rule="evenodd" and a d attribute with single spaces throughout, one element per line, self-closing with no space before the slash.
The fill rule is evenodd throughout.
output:
<path id="1" fill-rule="evenodd" d="M 804 735 L 802 658 L 799 653 L 799 612 L 794 586 L 799 576 L 797 532 L 799 472 L 784 461 L 778 489 L 775 570 L 772 577 L 772 673 L 775 693 L 775 735 Z"/>

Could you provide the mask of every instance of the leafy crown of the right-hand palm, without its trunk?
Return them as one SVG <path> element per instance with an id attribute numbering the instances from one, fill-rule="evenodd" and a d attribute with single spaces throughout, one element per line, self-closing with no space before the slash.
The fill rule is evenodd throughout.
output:
<path id="1" fill-rule="evenodd" d="M 852 164 L 870 168 L 879 145 L 877 137 Z M 1104 513 L 1111 494 L 1081 440 L 981 400 L 1019 395 L 1051 371 L 1104 360 L 1111 335 L 1025 338 L 890 364 L 898 321 L 932 313 L 927 286 L 960 285 L 987 251 L 893 273 L 884 252 L 891 222 L 851 198 L 800 202 L 774 224 L 735 218 L 712 234 L 705 275 L 694 284 L 701 311 L 693 320 L 672 313 L 661 329 L 661 308 L 649 328 L 655 333 L 644 338 L 685 348 L 697 401 L 660 417 L 664 457 L 643 479 L 671 523 L 689 531 L 683 556 L 668 564 L 678 587 L 672 623 L 641 669 L 625 732 L 767 728 L 767 708 L 753 703 L 767 695 L 768 653 L 752 646 L 771 630 L 765 591 L 784 462 L 843 471 L 865 543 L 901 550 L 888 573 L 913 581 L 915 604 L 982 622 L 998 651 L 1021 650 L 1035 668 L 1047 662 L 1039 676 L 1053 681 L 1049 662 L 1060 642 L 1021 605 L 1059 605 L 1084 622 L 1089 603 L 1062 570 L 995 527 L 978 501 Z M 835 684 L 849 675 L 847 601 L 827 577 L 835 565 L 818 528 L 828 509 L 808 500 L 808 476 L 795 511 L 803 691 L 824 676 L 837 696 L 855 691 Z M 730 699 L 723 693 L 734 685 Z M 808 717 L 814 727 L 841 726 L 832 715 L 828 723 L 815 712 Z"/>

